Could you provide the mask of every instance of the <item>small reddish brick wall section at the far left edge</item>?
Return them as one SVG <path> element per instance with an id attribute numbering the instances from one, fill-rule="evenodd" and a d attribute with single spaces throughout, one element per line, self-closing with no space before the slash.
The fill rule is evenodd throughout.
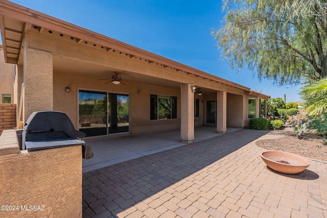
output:
<path id="1" fill-rule="evenodd" d="M 16 127 L 16 104 L 0 104 L 0 135 Z"/>

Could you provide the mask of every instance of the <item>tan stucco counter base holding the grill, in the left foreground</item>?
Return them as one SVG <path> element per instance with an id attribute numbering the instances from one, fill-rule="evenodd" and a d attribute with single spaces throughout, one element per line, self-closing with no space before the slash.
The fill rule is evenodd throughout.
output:
<path id="1" fill-rule="evenodd" d="M 0 136 L 0 217 L 82 217 L 81 145 L 20 151 Z"/>

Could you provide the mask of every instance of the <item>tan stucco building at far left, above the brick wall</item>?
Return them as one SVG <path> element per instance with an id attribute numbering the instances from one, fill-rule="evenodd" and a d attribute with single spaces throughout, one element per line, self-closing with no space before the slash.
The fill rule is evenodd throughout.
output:
<path id="1" fill-rule="evenodd" d="M 10 94 L 11 103 L 14 103 L 13 66 L 13 64 L 5 63 L 4 48 L 0 45 L 0 103 L 3 103 L 3 94 Z"/>

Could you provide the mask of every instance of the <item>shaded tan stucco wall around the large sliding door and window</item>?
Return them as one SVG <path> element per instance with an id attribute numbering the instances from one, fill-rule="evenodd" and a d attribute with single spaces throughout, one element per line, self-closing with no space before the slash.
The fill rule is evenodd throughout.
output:
<path id="1" fill-rule="evenodd" d="M 177 96 L 177 108 L 180 109 L 180 90 L 140 83 L 126 85 L 105 84 L 87 75 L 54 72 L 54 110 L 65 112 L 72 120 L 75 128 L 78 124 L 78 90 L 97 90 L 130 94 L 131 133 L 160 131 L 180 127 L 180 110 L 177 119 L 150 120 L 150 94 Z M 65 91 L 68 86 L 70 92 Z M 137 93 L 138 90 L 141 90 Z"/>

